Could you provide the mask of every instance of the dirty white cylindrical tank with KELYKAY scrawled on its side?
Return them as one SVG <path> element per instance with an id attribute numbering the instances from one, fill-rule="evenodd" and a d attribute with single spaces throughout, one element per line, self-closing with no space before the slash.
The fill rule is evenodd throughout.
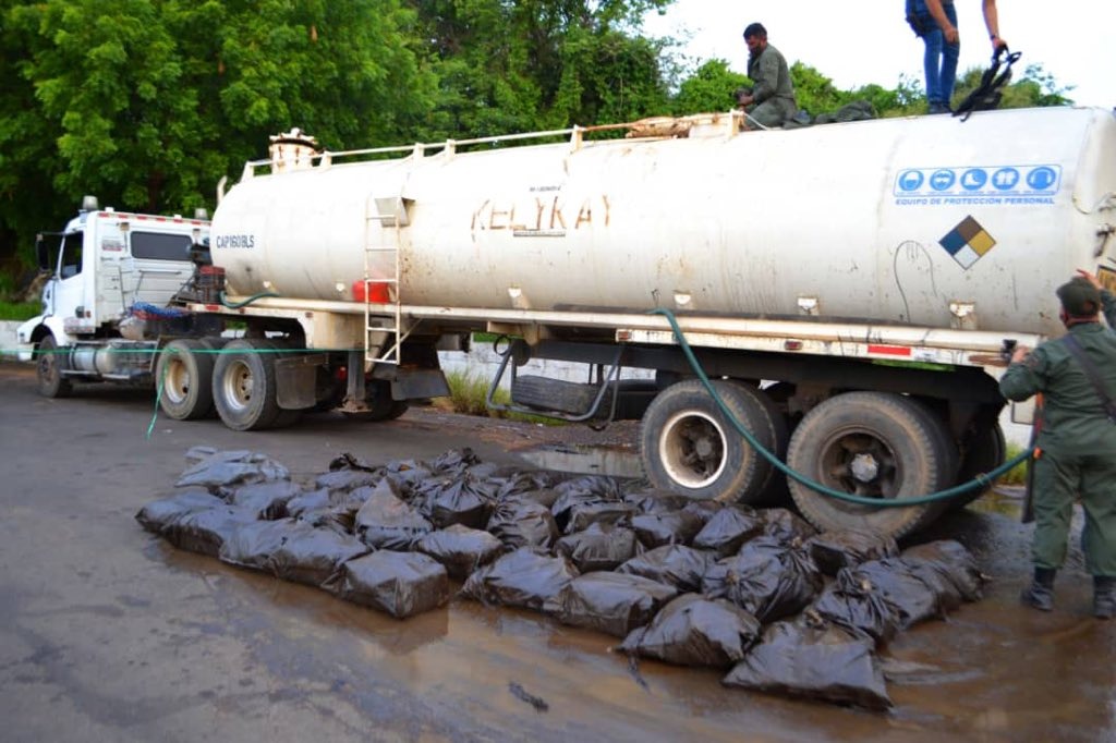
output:
<path id="1" fill-rule="evenodd" d="M 397 245 L 407 305 L 930 327 L 971 305 L 966 327 L 1054 334 L 1054 289 L 1116 251 L 1100 109 L 431 152 L 243 178 L 212 225 L 230 291 L 352 300 L 366 248 Z"/>

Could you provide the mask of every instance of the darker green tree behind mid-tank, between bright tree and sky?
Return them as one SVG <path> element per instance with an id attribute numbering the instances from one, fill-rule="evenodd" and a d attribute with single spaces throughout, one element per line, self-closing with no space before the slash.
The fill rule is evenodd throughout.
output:
<path id="1" fill-rule="evenodd" d="M 426 136 L 455 138 L 662 113 L 661 42 L 639 19 L 672 0 L 420 0 L 441 85 Z"/>

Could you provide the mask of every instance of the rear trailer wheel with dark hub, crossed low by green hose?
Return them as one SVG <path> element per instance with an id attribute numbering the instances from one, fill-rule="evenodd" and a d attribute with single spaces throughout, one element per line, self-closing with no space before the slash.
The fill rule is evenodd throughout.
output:
<path id="1" fill-rule="evenodd" d="M 810 411 L 790 437 L 787 464 L 833 490 L 895 500 L 941 490 L 955 457 L 937 418 L 916 401 L 887 393 L 830 397 Z M 935 519 L 935 503 L 874 509 L 838 501 L 789 479 L 799 510 L 822 531 L 874 530 L 899 538 Z"/>

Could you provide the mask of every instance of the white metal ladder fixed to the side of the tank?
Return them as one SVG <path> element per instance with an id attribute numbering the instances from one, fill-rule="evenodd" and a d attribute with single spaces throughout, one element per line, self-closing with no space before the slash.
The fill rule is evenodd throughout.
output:
<path id="1" fill-rule="evenodd" d="M 400 297 L 400 231 L 406 224 L 407 213 L 401 196 L 368 196 L 364 222 L 364 360 L 366 363 L 400 364 L 404 338 Z M 387 226 L 395 230 L 394 240 L 391 243 L 382 242 L 383 228 Z M 384 258 L 387 260 L 383 260 Z M 384 263 L 387 262 L 392 264 L 389 277 L 374 278 L 371 274 L 373 266 L 377 271 L 383 271 Z M 388 300 L 393 309 L 389 317 L 372 316 L 372 287 L 374 284 L 387 286 Z M 372 350 L 373 347 L 379 345 L 373 342 L 373 334 L 376 336 L 387 334 L 388 342 L 384 344 L 384 351 L 378 356 Z"/>

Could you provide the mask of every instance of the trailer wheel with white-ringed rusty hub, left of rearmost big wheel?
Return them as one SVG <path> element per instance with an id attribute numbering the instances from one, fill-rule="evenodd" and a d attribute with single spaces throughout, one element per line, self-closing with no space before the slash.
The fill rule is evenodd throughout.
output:
<path id="1" fill-rule="evenodd" d="M 732 415 L 764 448 L 775 448 L 775 423 L 760 393 L 733 382 L 712 384 Z M 771 475 L 768 461 L 737 433 L 698 379 L 673 384 L 655 397 L 643 416 L 639 450 L 653 485 L 695 499 L 750 503 Z"/>

